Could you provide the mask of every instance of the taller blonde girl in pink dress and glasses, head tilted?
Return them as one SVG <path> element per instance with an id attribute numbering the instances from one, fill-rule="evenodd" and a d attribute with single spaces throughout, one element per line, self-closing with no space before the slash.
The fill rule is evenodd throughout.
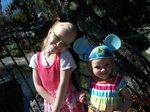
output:
<path id="1" fill-rule="evenodd" d="M 35 89 L 44 98 L 44 112 L 83 112 L 70 80 L 76 64 L 67 48 L 75 38 L 73 24 L 56 22 L 43 41 L 42 51 L 30 60 Z"/>

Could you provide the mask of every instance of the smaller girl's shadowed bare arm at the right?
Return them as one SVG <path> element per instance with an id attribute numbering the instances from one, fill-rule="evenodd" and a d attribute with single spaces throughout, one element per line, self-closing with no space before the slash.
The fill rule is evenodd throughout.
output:
<path id="1" fill-rule="evenodd" d="M 131 107 L 131 105 L 133 103 L 131 94 L 130 94 L 129 90 L 127 89 L 127 87 L 124 87 L 121 90 L 121 95 L 125 99 L 125 102 L 121 106 L 120 110 L 121 110 L 121 112 L 127 112 L 127 110 Z"/>

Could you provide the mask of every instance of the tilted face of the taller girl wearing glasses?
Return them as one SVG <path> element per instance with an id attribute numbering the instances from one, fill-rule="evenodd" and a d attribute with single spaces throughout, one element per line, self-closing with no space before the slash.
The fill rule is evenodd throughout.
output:
<path id="1" fill-rule="evenodd" d="M 65 51 L 70 47 L 71 42 L 75 38 L 75 34 L 62 28 L 50 29 L 48 38 L 49 51 L 52 53 L 57 53 Z"/>

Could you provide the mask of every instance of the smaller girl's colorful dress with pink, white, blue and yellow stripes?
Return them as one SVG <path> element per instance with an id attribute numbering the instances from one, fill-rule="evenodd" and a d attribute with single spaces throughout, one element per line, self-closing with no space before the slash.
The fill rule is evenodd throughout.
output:
<path id="1" fill-rule="evenodd" d="M 117 110 L 123 102 L 119 92 L 125 85 L 126 81 L 121 76 L 113 76 L 109 81 L 91 80 L 91 104 L 100 111 Z M 88 112 L 93 111 L 89 109 Z"/>

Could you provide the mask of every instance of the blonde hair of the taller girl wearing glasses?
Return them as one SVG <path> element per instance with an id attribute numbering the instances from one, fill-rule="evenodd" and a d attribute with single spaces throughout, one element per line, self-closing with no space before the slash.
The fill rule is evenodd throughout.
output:
<path id="1" fill-rule="evenodd" d="M 71 38 L 73 38 L 73 40 L 76 38 L 77 29 L 70 22 L 55 22 L 55 24 L 51 28 L 53 30 L 57 29 L 57 28 L 63 28 L 64 30 L 66 30 L 69 33 L 74 33 L 74 35 L 71 37 Z M 46 38 L 44 39 L 42 46 L 41 46 L 41 50 L 44 50 L 48 46 L 48 38 L 49 37 L 46 36 Z"/>

